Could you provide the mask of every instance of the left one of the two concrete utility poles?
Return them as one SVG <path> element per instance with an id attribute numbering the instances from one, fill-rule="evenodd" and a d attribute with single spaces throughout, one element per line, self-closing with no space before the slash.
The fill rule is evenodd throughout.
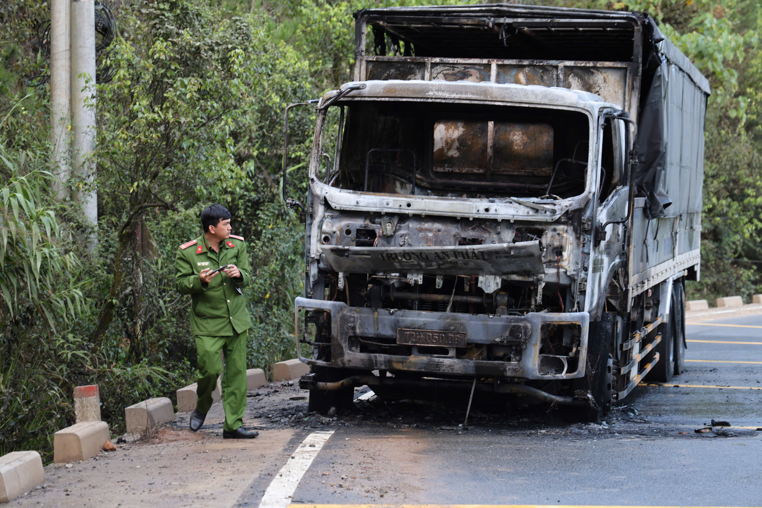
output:
<path id="1" fill-rule="evenodd" d="M 69 34 L 69 4 L 71 0 L 50 2 L 50 144 L 53 147 L 51 165 L 58 182 L 53 192 L 59 200 L 69 197 L 69 125 L 71 99 L 71 40 Z"/>

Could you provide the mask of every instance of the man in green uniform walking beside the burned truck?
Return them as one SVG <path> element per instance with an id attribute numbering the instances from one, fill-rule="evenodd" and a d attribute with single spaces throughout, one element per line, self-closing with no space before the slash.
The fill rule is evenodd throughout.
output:
<path id="1" fill-rule="evenodd" d="M 230 212 L 222 205 L 201 212 L 203 235 L 178 248 L 174 260 L 175 287 L 191 295 L 191 331 L 196 337 L 198 378 L 191 430 L 203 425 L 212 407 L 212 392 L 223 372 L 224 439 L 249 439 L 258 432 L 242 427 L 246 410 L 246 338 L 251 319 L 242 288 L 251 282 L 246 244 L 231 235 Z M 216 271 L 223 267 L 223 270 Z"/>

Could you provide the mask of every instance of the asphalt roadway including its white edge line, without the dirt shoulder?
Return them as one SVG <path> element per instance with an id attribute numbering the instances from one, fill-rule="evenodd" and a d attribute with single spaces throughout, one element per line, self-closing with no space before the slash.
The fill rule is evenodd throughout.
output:
<path id="1" fill-rule="evenodd" d="M 296 444 L 235 506 L 762 506 L 762 315 L 712 319 L 689 318 L 674 385 L 637 387 L 605 425 L 475 407 L 463 430 L 456 409 L 362 402 L 311 463 L 289 460 Z M 712 419 L 732 426 L 695 432 Z"/>

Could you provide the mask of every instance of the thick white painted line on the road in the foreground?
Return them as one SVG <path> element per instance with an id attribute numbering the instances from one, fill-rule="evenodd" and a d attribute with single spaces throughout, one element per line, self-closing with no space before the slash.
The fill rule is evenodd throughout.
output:
<path id="1" fill-rule="evenodd" d="M 333 430 L 313 432 L 304 439 L 264 491 L 259 508 L 286 508 L 291 503 L 299 481 L 333 433 Z"/>

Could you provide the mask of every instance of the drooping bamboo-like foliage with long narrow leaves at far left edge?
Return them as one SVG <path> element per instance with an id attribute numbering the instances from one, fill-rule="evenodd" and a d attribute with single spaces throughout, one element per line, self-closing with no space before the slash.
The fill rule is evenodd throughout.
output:
<path id="1" fill-rule="evenodd" d="M 0 187 L 2 455 L 34 441 L 30 431 L 66 422 L 66 405 L 59 405 L 61 380 L 50 375 L 44 360 L 55 357 L 51 339 L 85 304 L 79 264 L 64 251 L 55 208 L 44 196 L 50 175 L 36 168 L 27 152 L 9 152 L 2 145 L 0 162 L 7 182 Z"/>

